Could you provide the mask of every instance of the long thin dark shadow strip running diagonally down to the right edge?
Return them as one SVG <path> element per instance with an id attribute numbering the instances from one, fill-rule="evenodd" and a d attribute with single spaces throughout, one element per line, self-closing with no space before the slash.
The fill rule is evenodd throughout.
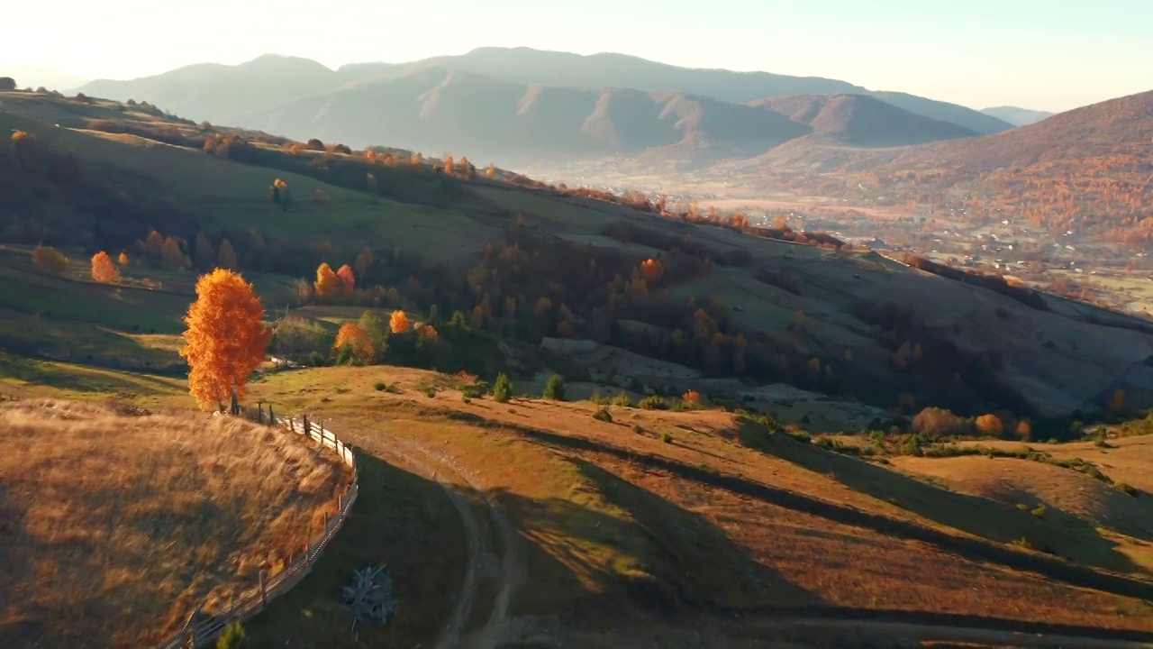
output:
<path id="1" fill-rule="evenodd" d="M 1055 558 L 1018 552 L 990 544 L 982 539 L 963 537 L 927 528 L 917 523 L 871 514 L 834 502 L 819 500 L 797 492 L 769 486 L 747 478 L 719 473 L 710 469 L 689 467 L 681 462 L 639 453 L 588 439 L 571 438 L 533 428 L 530 426 L 484 419 L 477 415 L 445 410 L 444 416 L 476 424 L 482 427 L 502 428 L 521 434 L 548 447 L 562 452 L 603 453 L 633 462 L 640 467 L 668 471 L 681 479 L 724 488 L 733 493 L 754 498 L 777 507 L 802 514 L 821 516 L 830 521 L 869 529 L 882 535 L 934 545 L 943 551 L 965 557 L 978 562 L 998 564 L 1017 570 L 1037 573 L 1070 585 L 1092 588 L 1124 597 L 1153 599 L 1153 584 L 1122 575 L 1105 574 L 1092 568 L 1071 565 Z"/>

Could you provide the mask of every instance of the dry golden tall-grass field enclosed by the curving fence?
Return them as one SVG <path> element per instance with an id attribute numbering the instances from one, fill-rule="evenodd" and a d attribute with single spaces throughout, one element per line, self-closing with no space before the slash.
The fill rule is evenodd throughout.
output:
<path id="1" fill-rule="evenodd" d="M 280 569 L 348 482 L 302 438 L 194 412 L 6 402 L 0 445 L 3 647 L 156 642 Z"/>

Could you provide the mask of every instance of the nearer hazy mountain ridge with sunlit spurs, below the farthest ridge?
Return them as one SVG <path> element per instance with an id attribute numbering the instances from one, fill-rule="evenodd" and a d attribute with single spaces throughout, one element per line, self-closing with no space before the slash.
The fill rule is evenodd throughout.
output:
<path id="1" fill-rule="evenodd" d="M 512 83 L 436 67 L 295 99 L 241 115 L 241 122 L 296 139 L 355 144 L 371 135 L 377 143 L 484 161 L 664 149 L 694 165 L 756 156 L 805 136 L 897 147 L 977 135 L 862 95 L 802 96 L 812 115 L 782 110 L 785 99 L 733 104 L 668 90 Z"/>

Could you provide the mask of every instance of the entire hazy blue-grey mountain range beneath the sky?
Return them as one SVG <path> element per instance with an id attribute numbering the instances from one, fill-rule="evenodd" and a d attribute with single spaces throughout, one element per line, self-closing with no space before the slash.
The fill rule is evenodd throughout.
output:
<path id="1" fill-rule="evenodd" d="M 1013 126 L 956 104 L 837 80 L 523 47 L 337 70 L 269 54 L 238 66 L 198 64 L 131 81 L 98 80 L 81 91 L 299 139 L 499 162 L 678 144 L 707 162 L 760 155 L 806 136 L 896 147 Z"/>

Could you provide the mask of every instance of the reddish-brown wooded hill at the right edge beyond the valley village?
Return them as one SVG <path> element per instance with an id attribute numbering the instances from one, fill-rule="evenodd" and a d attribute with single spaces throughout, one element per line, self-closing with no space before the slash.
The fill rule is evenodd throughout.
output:
<path id="1" fill-rule="evenodd" d="M 787 143 L 714 171 L 794 191 L 858 195 L 865 186 L 894 204 L 932 196 L 980 218 L 1005 210 L 1054 232 L 1140 245 L 1153 240 L 1151 130 L 1153 91 L 982 137 L 883 150 Z"/>

